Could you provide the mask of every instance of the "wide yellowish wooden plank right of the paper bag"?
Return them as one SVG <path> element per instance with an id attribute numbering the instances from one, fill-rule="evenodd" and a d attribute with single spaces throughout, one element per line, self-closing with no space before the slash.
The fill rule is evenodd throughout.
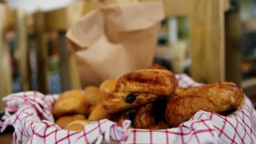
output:
<path id="1" fill-rule="evenodd" d="M 199 82 L 224 81 L 224 5 L 222 0 L 191 0 L 189 7 L 191 76 Z"/>

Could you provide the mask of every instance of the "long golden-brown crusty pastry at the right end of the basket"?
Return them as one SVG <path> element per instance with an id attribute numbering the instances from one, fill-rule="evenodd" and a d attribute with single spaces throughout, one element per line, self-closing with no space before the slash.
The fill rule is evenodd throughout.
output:
<path id="1" fill-rule="evenodd" d="M 189 88 L 168 101 L 166 122 L 170 127 L 177 127 L 199 110 L 226 115 L 240 109 L 244 100 L 242 89 L 232 82 Z"/>

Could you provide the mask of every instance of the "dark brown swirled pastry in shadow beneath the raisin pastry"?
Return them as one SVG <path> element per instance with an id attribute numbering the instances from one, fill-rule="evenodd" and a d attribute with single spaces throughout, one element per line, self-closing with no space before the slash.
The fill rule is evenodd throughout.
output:
<path id="1" fill-rule="evenodd" d="M 153 103 L 140 106 L 133 120 L 133 125 L 139 129 L 154 127 L 156 125 L 155 117 L 156 109 L 154 109 Z"/>

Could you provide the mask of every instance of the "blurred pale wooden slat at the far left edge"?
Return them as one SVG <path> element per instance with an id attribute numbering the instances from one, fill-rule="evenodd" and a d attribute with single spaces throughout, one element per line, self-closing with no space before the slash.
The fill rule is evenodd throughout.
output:
<path id="1" fill-rule="evenodd" d="M 0 99 L 12 92 L 11 90 L 11 63 L 10 52 L 4 33 L 6 28 L 7 13 L 6 5 L 0 3 Z M 4 103 L 0 101 L 0 110 L 3 110 Z"/>

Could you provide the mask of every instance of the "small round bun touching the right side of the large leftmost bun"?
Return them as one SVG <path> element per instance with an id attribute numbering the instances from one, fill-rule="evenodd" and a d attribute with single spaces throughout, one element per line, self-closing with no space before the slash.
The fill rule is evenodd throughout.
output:
<path id="1" fill-rule="evenodd" d="M 103 99 L 103 91 L 95 86 L 88 86 L 84 89 L 85 100 L 90 105 L 96 105 Z"/>

